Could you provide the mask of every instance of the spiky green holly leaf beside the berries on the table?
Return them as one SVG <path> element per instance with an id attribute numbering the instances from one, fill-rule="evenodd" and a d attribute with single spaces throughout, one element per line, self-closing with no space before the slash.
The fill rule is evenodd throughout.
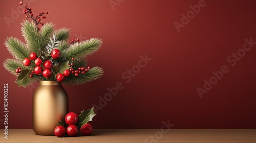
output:
<path id="1" fill-rule="evenodd" d="M 82 125 L 87 124 L 87 122 L 89 121 L 93 121 L 93 117 L 96 115 L 93 111 L 92 107 L 91 109 L 87 110 L 87 111 L 82 111 L 81 114 L 79 115 L 79 124 L 78 124 L 78 128 L 81 128 Z"/>

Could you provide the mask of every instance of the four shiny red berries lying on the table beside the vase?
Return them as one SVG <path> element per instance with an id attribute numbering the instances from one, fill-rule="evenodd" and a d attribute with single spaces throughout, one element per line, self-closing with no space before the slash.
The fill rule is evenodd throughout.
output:
<path id="1" fill-rule="evenodd" d="M 78 135 L 78 132 L 80 130 L 80 132 L 82 133 L 82 135 L 90 135 L 93 132 L 93 127 L 91 124 L 84 124 L 82 125 L 82 127 L 80 129 L 77 128 L 77 123 L 78 123 L 78 116 L 76 113 L 74 112 L 70 112 L 66 115 L 65 117 L 65 122 L 67 125 L 69 125 L 67 127 L 67 129 L 64 126 L 57 126 L 54 129 L 54 134 L 57 137 L 63 137 L 66 133 L 69 136 L 76 136 Z"/>

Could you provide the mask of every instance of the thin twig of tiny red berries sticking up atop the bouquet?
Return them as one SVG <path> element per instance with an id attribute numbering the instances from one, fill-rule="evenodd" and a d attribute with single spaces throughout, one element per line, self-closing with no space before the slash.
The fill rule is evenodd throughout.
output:
<path id="1" fill-rule="evenodd" d="M 19 5 L 23 5 L 23 1 L 19 2 Z M 44 23 L 42 23 L 40 21 L 41 21 L 41 18 L 42 19 L 46 18 L 46 16 L 44 16 L 44 14 L 48 14 L 48 12 L 44 12 L 44 11 L 39 12 L 39 14 L 35 15 L 35 17 L 34 17 L 34 14 L 32 13 L 31 10 L 32 9 L 28 8 L 28 5 L 26 4 L 25 7 L 24 7 L 24 10 L 23 10 L 23 13 L 27 14 L 25 20 L 28 20 L 28 18 L 31 18 L 35 22 L 36 27 L 37 27 L 38 24 L 40 24 L 41 26 L 44 26 Z M 37 28 L 37 31 L 39 31 L 39 30 L 40 29 Z"/>

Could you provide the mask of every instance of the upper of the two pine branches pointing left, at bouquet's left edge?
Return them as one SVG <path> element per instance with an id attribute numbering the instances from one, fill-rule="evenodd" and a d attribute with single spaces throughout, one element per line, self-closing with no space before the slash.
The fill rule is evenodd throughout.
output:
<path id="1" fill-rule="evenodd" d="M 23 61 L 24 58 L 29 57 L 31 51 L 26 47 L 26 45 L 17 38 L 7 38 L 5 45 L 11 55 L 19 61 Z"/>

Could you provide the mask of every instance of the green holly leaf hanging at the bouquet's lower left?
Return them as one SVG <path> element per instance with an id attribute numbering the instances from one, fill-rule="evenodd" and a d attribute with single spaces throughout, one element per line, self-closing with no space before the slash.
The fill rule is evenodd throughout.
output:
<path id="1" fill-rule="evenodd" d="M 29 85 L 29 83 L 30 83 L 29 75 L 30 75 L 29 69 L 22 70 L 22 73 L 20 75 L 18 75 L 18 78 L 15 81 L 15 83 L 18 84 L 18 87 L 23 86 L 24 88 L 26 88 L 26 86 Z"/>

